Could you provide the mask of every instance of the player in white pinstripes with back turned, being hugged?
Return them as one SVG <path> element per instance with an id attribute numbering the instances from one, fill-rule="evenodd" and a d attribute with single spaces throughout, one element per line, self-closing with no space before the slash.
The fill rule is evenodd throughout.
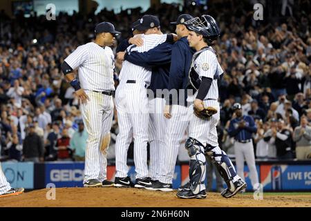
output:
<path id="1" fill-rule="evenodd" d="M 144 15 L 135 29 L 144 31 L 141 37 L 143 46 L 129 46 L 127 53 L 144 52 L 165 41 L 173 41 L 171 35 L 159 35 L 160 21 L 152 15 Z M 124 59 L 124 53 L 117 54 L 118 59 Z M 126 154 L 134 138 L 134 162 L 136 172 L 135 187 L 151 187 L 151 179 L 147 166 L 147 142 L 149 140 L 149 110 L 147 87 L 151 81 L 151 68 L 144 68 L 124 61 L 120 72 L 120 84 L 115 93 L 119 134 L 115 144 L 115 186 L 130 186 Z"/>

